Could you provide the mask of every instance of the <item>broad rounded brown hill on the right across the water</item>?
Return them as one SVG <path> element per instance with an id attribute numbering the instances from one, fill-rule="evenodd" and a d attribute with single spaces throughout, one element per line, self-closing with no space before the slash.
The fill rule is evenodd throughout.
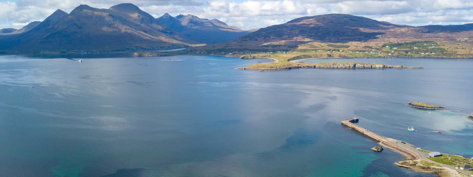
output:
<path id="1" fill-rule="evenodd" d="M 315 50 L 338 43 L 358 46 L 356 49 L 361 50 L 363 46 L 376 48 L 395 42 L 433 41 L 444 45 L 471 40 L 473 24 L 409 26 L 347 14 L 326 14 L 296 18 L 285 24 L 260 28 L 230 42 L 195 49 L 210 53 Z"/>

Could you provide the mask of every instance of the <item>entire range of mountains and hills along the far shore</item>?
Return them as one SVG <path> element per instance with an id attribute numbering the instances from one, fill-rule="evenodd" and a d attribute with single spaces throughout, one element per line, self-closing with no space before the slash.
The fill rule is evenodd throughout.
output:
<path id="1" fill-rule="evenodd" d="M 120 51 L 193 47 L 204 53 L 312 50 L 339 43 L 381 46 L 393 42 L 433 41 L 471 46 L 473 24 L 409 26 L 347 14 L 300 17 L 280 25 L 242 30 L 218 19 L 193 15 L 154 18 L 133 4 L 111 8 L 80 5 L 69 14 L 58 9 L 43 22 L 0 30 L 0 54 Z M 217 43 L 222 42 L 222 43 Z M 472 48 L 473 49 L 473 48 Z M 469 52 L 467 47 L 465 50 Z"/>

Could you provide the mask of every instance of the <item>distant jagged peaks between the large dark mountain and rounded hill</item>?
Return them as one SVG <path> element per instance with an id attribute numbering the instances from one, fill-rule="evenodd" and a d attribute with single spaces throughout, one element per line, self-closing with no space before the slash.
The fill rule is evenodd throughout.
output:
<path id="1" fill-rule="evenodd" d="M 193 15 L 178 15 L 172 17 L 166 13 L 157 19 L 171 29 L 186 36 L 199 39 L 200 42 L 207 44 L 228 42 L 239 36 L 255 31 L 255 29 L 242 30 L 235 26 L 229 26 L 218 19 L 209 20 Z"/>

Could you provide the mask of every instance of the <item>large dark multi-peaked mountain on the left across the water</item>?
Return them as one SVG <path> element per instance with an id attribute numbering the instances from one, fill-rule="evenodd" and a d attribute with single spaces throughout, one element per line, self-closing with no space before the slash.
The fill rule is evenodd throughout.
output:
<path id="1" fill-rule="evenodd" d="M 0 36 L 0 53 L 118 51 L 197 44 L 133 4 L 108 9 L 80 5 L 70 14 L 55 11 L 20 34 Z"/>

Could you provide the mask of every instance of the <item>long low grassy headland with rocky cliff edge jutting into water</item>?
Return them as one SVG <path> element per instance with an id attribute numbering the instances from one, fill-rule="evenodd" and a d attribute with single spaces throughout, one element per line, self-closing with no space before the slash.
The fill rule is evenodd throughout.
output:
<path id="1" fill-rule="evenodd" d="M 385 65 L 377 63 L 361 63 L 361 62 L 324 62 L 324 63 L 292 63 L 292 62 L 274 62 L 274 63 L 258 63 L 247 67 L 239 67 L 237 69 L 254 69 L 254 70 L 287 70 L 298 68 L 369 68 L 369 69 L 423 69 L 422 67 L 405 67 L 401 65 Z"/>

